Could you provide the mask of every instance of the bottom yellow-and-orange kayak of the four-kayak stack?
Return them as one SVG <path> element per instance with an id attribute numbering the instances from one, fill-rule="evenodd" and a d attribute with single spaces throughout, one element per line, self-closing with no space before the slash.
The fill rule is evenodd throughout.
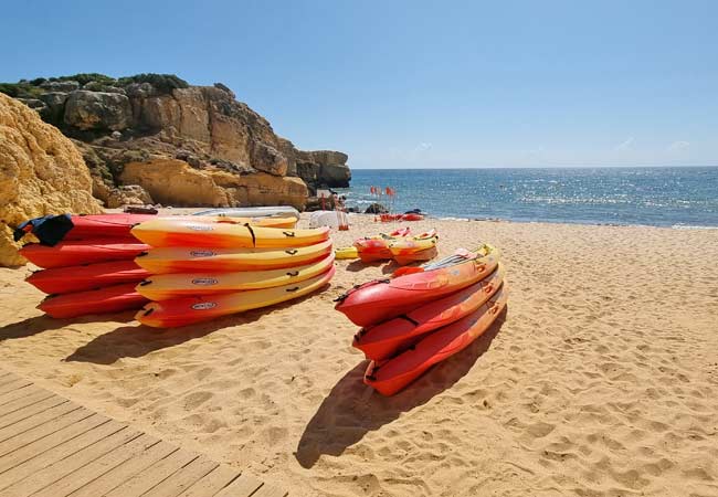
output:
<path id="1" fill-rule="evenodd" d="M 137 313 L 135 319 L 142 325 L 156 328 L 171 328 L 205 321 L 219 316 L 266 307 L 310 294 L 329 283 L 334 273 L 335 267 L 331 266 L 329 271 L 318 276 L 274 288 L 151 302 Z"/>

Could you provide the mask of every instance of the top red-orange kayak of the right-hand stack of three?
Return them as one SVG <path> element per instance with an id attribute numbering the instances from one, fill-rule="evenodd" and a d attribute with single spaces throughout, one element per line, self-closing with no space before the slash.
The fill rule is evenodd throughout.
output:
<path id="1" fill-rule="evenodd" d="M 371 326 L 406 314 L 484 279 L 498 264 L 499 251 L 483 245 L 442 261 L 412 267 L 405 276 L 374 279 L 347 292 L 335 307 L 353 324 Z"/>

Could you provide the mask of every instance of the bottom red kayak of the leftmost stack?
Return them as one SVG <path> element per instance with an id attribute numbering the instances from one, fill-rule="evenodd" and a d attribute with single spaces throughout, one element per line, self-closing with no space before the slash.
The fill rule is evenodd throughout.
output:
<path id="1" fill-rule="evenodd" d="M 125 283 L 94 290 L 49 296 L 38 308 L 54 318 L 139 309 L 149 300 L 139 295 L 135 286 L 135 283 Z"/>

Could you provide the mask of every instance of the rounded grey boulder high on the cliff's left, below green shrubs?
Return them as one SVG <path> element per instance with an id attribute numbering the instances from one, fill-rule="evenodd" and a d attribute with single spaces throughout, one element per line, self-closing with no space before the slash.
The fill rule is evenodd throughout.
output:
<path id="1" fill-rule="evenodd" d="M 64 121 L 77 129 L 122 130 L 133 123 L 129 98 L 119 93 L 72 92 L 65 103 Z"/>

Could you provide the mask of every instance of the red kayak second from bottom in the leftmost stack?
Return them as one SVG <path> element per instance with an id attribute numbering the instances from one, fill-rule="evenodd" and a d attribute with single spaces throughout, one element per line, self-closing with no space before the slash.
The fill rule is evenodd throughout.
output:
<path id="1" fill-rule="evenodd" d="M 139 283 L 149 275 L 149 271 L 134 261 L 113 261 L 36 271 L 25 282 L 45 294 L 68 294 L 120 283 Z"/>

